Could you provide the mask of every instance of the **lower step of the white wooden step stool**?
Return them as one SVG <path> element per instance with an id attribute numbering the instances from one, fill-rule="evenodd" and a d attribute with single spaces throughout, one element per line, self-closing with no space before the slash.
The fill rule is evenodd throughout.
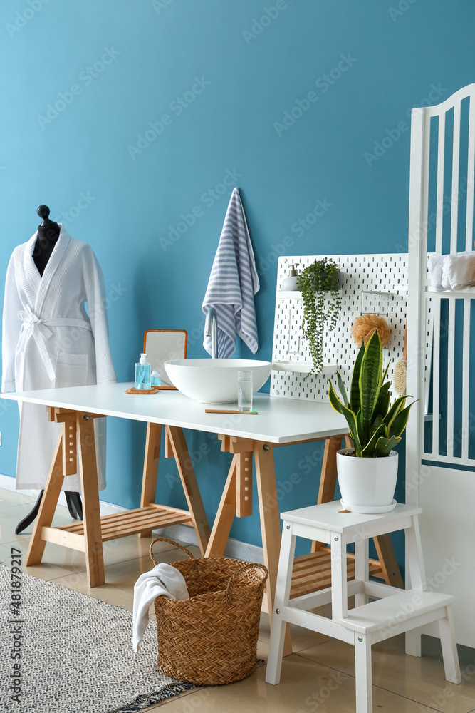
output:
<path id="1" fill-rule="evenodd" d="M 395 627 L 399 622 L 407 622 L 441 607 L 447 607 L 452 602 L 454 597 L 448 594 L 409 589 L 362 607 L 350 609 L 348 617 L 342 619 L 340 625 L 361 634 L 371 634 L 385 627 Z"/>

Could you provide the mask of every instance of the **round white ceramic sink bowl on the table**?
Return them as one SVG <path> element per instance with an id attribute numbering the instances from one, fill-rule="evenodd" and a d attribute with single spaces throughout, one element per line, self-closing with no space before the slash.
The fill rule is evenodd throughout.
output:
<path id="1" fill-rule="evenodd" d="M 253 372 L 253 389 L 259 391 L 269 374 L 270 361 L 256 359 L 172 359 L 165 371 L 172 384 L 185 396 L 202 404 L 229 404 L 237 401 L 237 373 Z"/>

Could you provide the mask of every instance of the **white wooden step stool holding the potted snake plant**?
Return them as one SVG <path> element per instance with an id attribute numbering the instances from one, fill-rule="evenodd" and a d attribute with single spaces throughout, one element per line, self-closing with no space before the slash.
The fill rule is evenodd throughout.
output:
<path id="1" fill-rule="evenodd" d="M 286 622 L 353 644 L 356 665 L 356 713 L 372 712 L 371 645 L 439 622 L 445 677 L 461 683 L 451 604 L 454 597 L 427 592 L 422 561 L 419 523 L 421 508 L 397 504 L 390 513 L 360 515 L 343 510 L 339 501 L 282 513 L 283 535 L 278 563 L 276 596 L 266 682 L 281 679 Z M 400 590 L 372 582 L 368 574 L 369 539 L 405 530 L 406 553 L 412 589 Z M 331 547 L 332 585 L 289 599 L 296 537 L 317 540 Z M 346 545 L 355 543 L 355 579 L 347 582 Z M 355 609 L 348 611 L 348 597 L 355 595 Z M 368 597 L 378 597 L 368 602 Z M 310 609 L 331 602 L 332 618 Z"/>

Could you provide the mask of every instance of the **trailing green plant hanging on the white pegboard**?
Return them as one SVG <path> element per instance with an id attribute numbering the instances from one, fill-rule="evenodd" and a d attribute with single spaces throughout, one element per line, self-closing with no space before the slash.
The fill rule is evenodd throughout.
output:
<path id="1" fill-rule="evenodd" d="M 323 260 L 315 260 L 297 276 L 297 289 L 303 299 L 302 332 L 308 339 L 313 361 L 308 376 L 318 376 L 323 369 L 325 324 L 328 324 L 328 329 L 335 329 L 340 313 L 339 267 L 331 257 L 324 257 Z"/>

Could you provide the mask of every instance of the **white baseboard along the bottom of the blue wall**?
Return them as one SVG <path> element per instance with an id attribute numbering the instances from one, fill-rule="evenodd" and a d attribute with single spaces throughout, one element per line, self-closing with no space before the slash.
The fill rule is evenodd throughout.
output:
<path id="1" fill-rule="evenodd" d="M 4 490 L 14 491 L 15 488 L 15 478 L 11 476 L 4 476 L 0 473 L 0 488 Z M 22 495 L 29 496 L 31 498 L 38 498 L 40 491 L 38 490 L 21 490 L 18 491 Z M 66 496 L 61 491 L 59 495 L 58 505 L 67 507 Z M 101 515 L 114 515 L 115 513 L 125 513 L 127 508 L 122 508 L 119 505 L 114 505 L 113 503 L 105 503 L 105 501 L 100 501 L 100 514 Z M 197 533 L 195 533 L 194 528 L 187 525 L 171 525 L 169 528 L 162 528 L 160 530 L 153 530 L 154 535 L 157 537 L 168 537 L 170 540 L 177 540 L 180 543 L 189 543 L 190 545 L 198 545 Z M 226 550 L 224 550 L 226 557 L 232 557 L 236 560 L 244 560 L 245 562 L 258 562 L 263 564 L 263 550 L 258 545 L 248 545 L 240 540 L 234 540 L 233 538 L 228 539 L 226 545 Z"/>

